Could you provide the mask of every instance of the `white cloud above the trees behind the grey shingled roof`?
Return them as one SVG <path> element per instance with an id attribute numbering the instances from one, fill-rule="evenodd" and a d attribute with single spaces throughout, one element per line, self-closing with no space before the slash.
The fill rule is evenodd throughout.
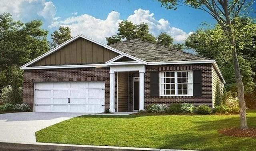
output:
<path id="1" fill-rule="evenodd" d="M 164 20 L 163 18 L 156 20 L 154 13 L 150 13 L 149 10 L 135 10 L 134 14 L 130 15 L 127 20 L 134 24 L 140 24 L 142 22 L 148 24 L 148 28 L 154 36 L 158 36 L 161 32 L 166 32 L 174 38 L 174 42 L 184 42 L 188 36 L 183 30 L 171 27 L 168 20 Z"/>

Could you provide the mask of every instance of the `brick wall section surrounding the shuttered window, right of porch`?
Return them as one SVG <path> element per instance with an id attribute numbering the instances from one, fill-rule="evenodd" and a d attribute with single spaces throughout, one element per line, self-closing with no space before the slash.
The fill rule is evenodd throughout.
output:
<path id="1" fill-rule="evenodd" d="M 150 72 L 151 71 L 182 71 L 182 70 L 202 70 L 202 96 L 170 96 L 158 97 L 150 96 Z M 190 64 L 171 66 L 146 66 L 145 72 L 145 109 L 150 104 L 172 103 L 192 103 L 198 105 L 208 105 L 212 107 L 212 64 Z"/>

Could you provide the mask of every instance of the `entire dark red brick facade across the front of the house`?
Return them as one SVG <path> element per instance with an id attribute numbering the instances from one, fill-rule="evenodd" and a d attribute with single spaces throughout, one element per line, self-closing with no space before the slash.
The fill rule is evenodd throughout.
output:
<path id="1" fill-rule="evenodd" d="M 202 70 L 202 96 L 150 96 L 151 71 L 184 71 Z M 33 108 L 34 82 L 57 81 L 105 81 L 105 110 L 109 109 L 109 75 L 110 68 L 72 68 L 52 70 L 24 70 L 23 102 Z M 138 72 L 129 72 L 128 81 L 128 111 L 133 110 L 133 77 L 138 77 Z M 115 78 L 117 79 L 117 78 Z M 116 83 L 115 80 L 115 108 L 116 108 Z M 145 109 L 150 104 L 192 103 L 194 105 L 208 105 L 212 107 L 212 64 L 190 64 L 169 66 L 146 66 L 145 72 Z"/>

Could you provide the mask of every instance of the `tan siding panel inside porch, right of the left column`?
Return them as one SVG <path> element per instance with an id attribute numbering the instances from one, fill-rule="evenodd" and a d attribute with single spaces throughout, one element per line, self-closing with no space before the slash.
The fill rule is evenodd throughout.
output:
<path id="1" fill-rule="evenodd" d="M 128 111 L 128 73 L 118 72 L 118 112 Z"/>

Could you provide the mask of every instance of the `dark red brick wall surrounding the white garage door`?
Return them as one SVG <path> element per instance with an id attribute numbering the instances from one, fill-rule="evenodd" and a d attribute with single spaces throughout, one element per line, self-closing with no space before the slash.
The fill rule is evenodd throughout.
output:
<path id="1" fill-rule="evenodd" d="M 33 111 L 34 82 L 55 81 L 105 81 L 105 110 L 109 109 L 109 67 L 24 70 L 23 103 L 30 105 Z"/>

